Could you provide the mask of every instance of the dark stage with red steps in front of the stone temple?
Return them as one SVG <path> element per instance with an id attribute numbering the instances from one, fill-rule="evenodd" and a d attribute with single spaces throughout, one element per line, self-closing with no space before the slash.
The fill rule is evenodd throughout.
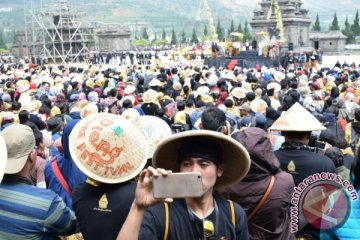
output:
<path id="1" fill-rule="evenodd" d="M 204 64 L 211 67 L 227 68 L 233 70 L 235 66 L 241 68 L 254 68 L 256 64 L 266 67 L 278 67 L 280 63 L 280 58 L 264 58 L 257 55 L 257 51 L 242 51 L 237 56 L 232 57 L 216 57 L 216 58 L 207 58 L 205 59 Z"/>

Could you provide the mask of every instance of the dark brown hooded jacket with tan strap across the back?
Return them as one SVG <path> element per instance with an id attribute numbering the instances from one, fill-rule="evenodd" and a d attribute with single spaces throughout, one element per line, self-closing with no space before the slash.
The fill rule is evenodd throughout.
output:
<path id="1" fill-rule="evenodd" d="M 269 197 L 248 223 L 250 239 L 294 239 L 290 233 L 289 216 L 293 177 L 281 170 L 264 130 L 247 128 L 240 132 L 237 140 L 250 154 L 250 170 L 241 182 L 225 189 L 223 195 L 239 203 L 249 216 L 263 197 L 271 175 L 274 175 L 275 183 Z"/>

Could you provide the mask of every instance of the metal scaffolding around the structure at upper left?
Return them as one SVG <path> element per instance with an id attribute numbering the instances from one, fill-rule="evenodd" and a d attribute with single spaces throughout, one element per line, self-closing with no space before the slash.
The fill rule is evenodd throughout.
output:
<path id="1" fill-rule="evenodd" d="M 79 20 L 84 15 L 71 9 L 67 0 L 46 1 L 46 5 L 42 0 L 24 0 L 29 57 L 60 64 L 88 59 L 95 49 L 95 34 Z"/>

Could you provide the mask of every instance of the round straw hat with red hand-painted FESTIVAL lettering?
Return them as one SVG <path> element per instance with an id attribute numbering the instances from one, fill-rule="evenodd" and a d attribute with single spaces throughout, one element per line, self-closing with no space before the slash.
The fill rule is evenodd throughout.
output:
<path id="1" fill-rule="evenodd" d="M 143 133 L 130 121 L 110 113 L 83 118 L 72 130 L 69 145 L 79 169 L 103 183 L 134 178 L 147 160 Z"/>

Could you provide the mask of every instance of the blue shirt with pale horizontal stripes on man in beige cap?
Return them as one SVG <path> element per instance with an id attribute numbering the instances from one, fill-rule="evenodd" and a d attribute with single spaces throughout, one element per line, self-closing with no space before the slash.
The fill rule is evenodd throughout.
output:
<path id="1" fill-rule="evenodd" d="M 0 184 L 0 223 L 0 239 L 56 239 L 75 231 L 76 217 L 51 190 L 5 175 Z"/>

